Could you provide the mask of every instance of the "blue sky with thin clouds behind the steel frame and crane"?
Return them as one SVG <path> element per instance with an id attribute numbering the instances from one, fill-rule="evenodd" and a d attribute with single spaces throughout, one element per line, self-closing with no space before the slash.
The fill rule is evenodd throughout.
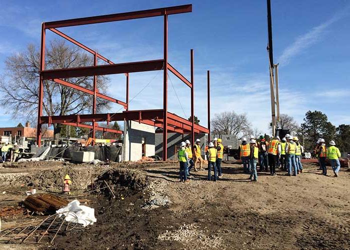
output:
<path id="1" fill-rule="evenodd" d="M 194 49 L 195 115 L 206 125 L 206 70 L 211 71 L 211 114 L 246 112 L 252 127 L 268 132 L 270 97 L 265 0 L 16 1 L 0 9 L 0 74 L 7 56 L 39 45 L 42 21 L 192 3 L 191 13 L 169 16 L 169 62 L 189 79 Z M 350 1 L 271 0 L 274 62 L 279 62 L 280 112 L 302 122 L 320 110 L 335 125 L 350 123 Z M 162 17 L 109 22 L 61 31 L 115 62 L 162 58 Z M 57 37 L 46 32 L 47 42 Z M 125 99 L 122 75 L 107 92 Z M 130 109 L 162 107 L 162 72 L 130 74 Z M 173 85 L 173 87 L 172 87 Z M 190 115 L 190 90 L 170 74 L 169 111 Z M 181 105 L 175 96 L 175 91 Z M 183 110 L 182 110 L 182 108 Z M 118 110 L 113 106 L 112 111 Z M 5 110 L 3 110 L 4 112 Z M 8 110 L 10 111 L 10 110 Z M 0 117 L 0 126 L 25 120 Z"/>

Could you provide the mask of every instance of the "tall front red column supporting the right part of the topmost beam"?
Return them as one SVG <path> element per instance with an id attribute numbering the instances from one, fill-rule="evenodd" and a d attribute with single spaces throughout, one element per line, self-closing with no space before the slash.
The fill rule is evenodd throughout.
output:
<path id="1" fill-rule="evenodd" d="M 163 160 L 167 159 L 167 14 L 164 13 Z"/>

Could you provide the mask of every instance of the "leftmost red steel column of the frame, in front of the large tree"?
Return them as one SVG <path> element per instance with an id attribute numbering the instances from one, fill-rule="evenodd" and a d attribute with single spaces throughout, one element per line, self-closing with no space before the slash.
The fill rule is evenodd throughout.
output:
<path id="1" fill-rule="evenodd" d="M 41 53 L 40 53 L 40 71 L 45 68 L 45 25 L 41 24 Z M 37 128 L 36 128 L 36 144 L 38 147 L 41 146 L 41 121 L 40 116 L 42 116 L 42 99 L 43 99 L 43 79 L 40 73 L 39 79 L 39 97 L 38 97 L 38 107 L 37 107 Z"/>

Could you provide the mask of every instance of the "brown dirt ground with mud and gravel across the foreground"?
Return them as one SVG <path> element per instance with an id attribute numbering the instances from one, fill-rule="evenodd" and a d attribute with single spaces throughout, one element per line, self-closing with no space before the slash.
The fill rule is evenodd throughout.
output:
<path id="1" fill-rule="evenodd" d="M 219 181 L 207 181 L 203 170 L 192 172 L 192 179 L 181 183 L 175 163 L 41 163 L 0 168 L 0 181 L 1 186 L 11 179 L 10 185 L 22 182 L 35 187 L 39 185 L 35 179 L 44 176 L 54 182 L 68 171 L 77 182 L 75 193 L 88 188 L 91 180 L 115 184 L 114 199 L 106 189 L 89 194 L 95 224 L 57 235 L 53 245 L 43 248 L 350 249 L 350 172 L 341 169 L 336 178 L 330 167 L 329 176 L 316 168 L 304 164 L 298 176 L 259 172 L 258 181 L 250 182 L 241 165 L 223 164 Z M 45 182 L 40 188 L 55 185 Z M 3 249 L 17 246 L 0 244 Z"/>

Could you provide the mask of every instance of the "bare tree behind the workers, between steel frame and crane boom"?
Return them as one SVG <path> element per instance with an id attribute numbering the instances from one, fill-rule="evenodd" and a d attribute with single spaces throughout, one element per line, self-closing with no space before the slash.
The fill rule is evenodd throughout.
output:
<path id="1" fill-rule="evenodd" d="M 237 114 L 234 111 L 216 113 L 211 120 L 212 132 L 214 134 L 234 134 L 245 136 L 251 133 L 250 122 L 246 113 Z"/>

